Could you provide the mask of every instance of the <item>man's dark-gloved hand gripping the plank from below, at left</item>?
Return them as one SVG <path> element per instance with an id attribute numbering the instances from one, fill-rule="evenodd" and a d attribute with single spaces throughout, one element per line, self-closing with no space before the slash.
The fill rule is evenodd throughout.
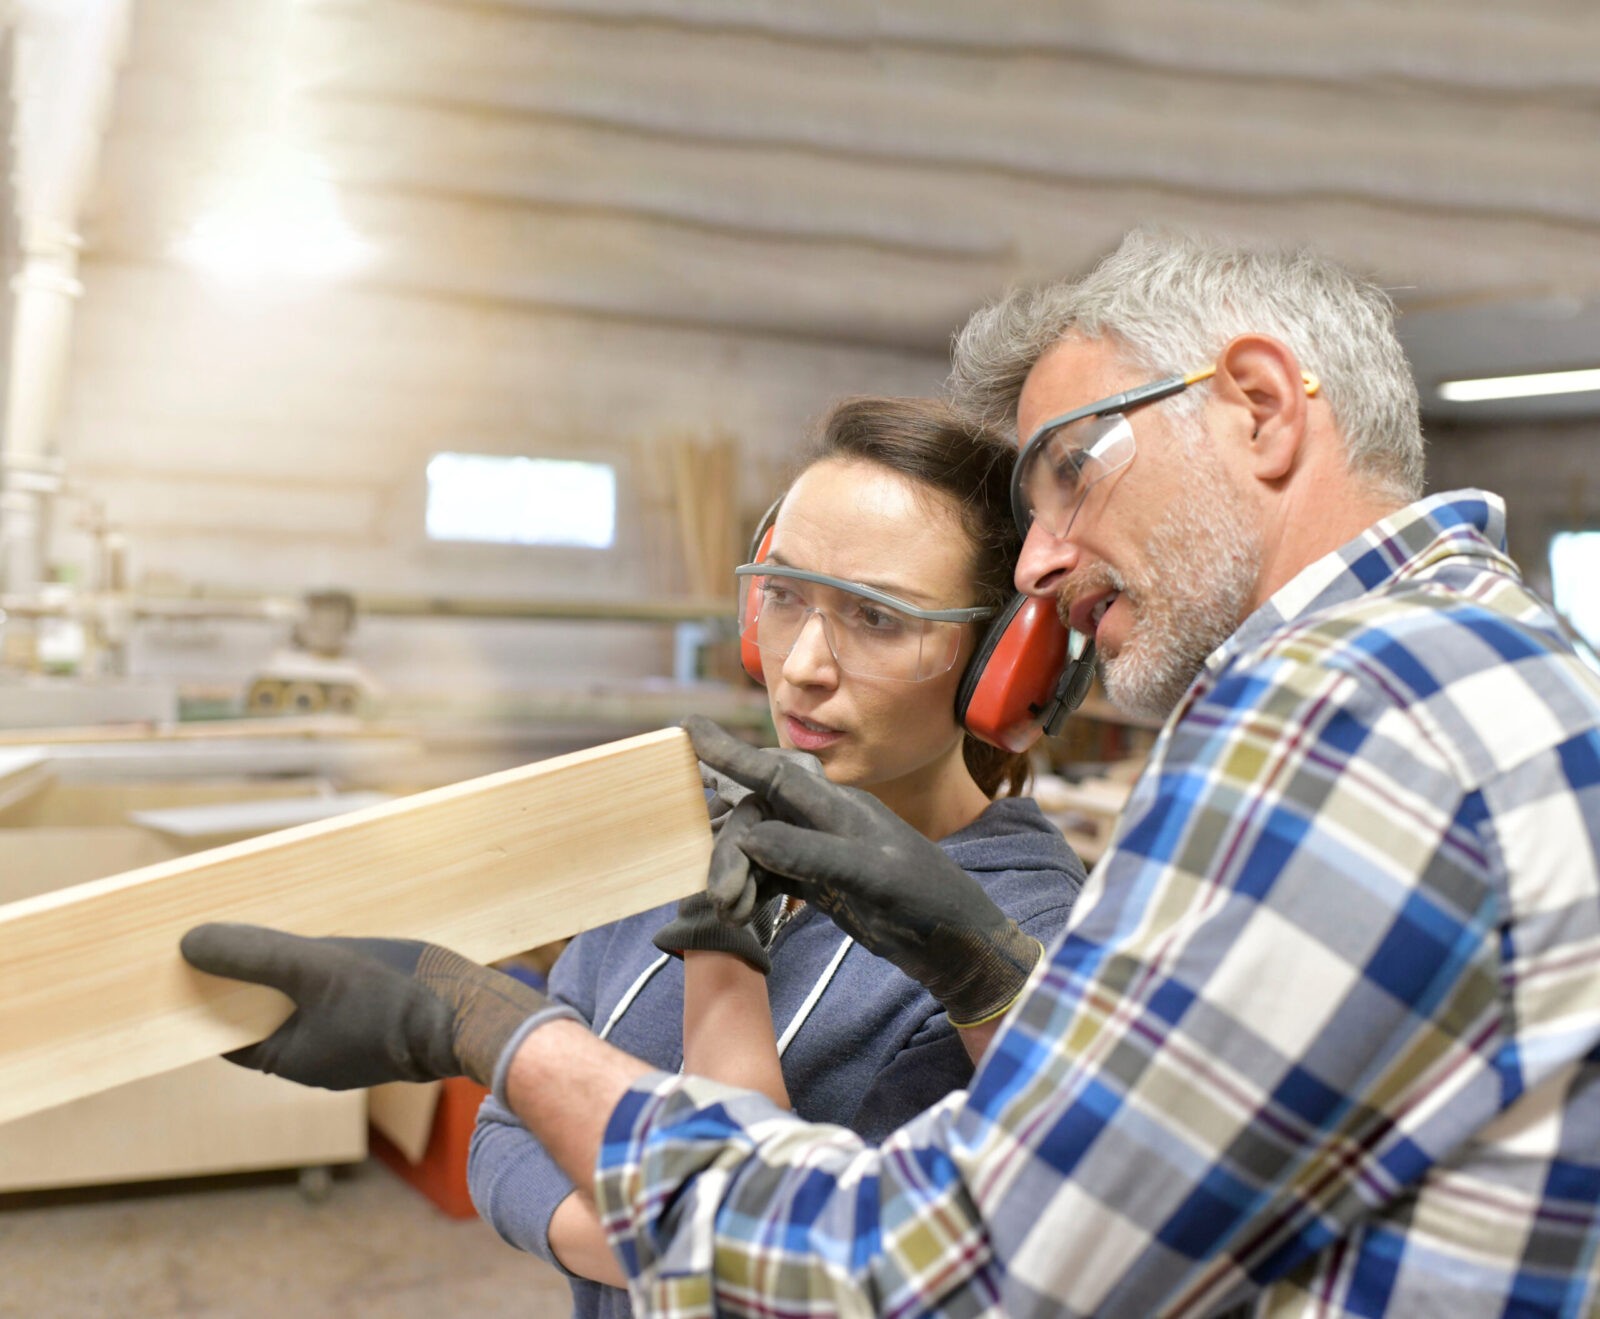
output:
<path id="1" fill-rule="evenodd" d="M 488 1085 L 512 1036 L 549 1004 L 520 980 L 416 940 L 211 924 L 189 930 L 179 949 L 202 972 L 294 1000 L 277 1031 L 229 1061 L 326 1090 L 446 1076 Z M 557 1013 L 576 1020 L 570 1008 Z"/>

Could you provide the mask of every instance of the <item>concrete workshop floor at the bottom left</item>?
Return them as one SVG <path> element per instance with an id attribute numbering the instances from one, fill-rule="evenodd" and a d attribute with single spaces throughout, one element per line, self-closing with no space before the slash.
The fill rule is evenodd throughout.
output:
<path id="1" fill-rule="evenodd" d="M 309 1202 L 288 1173 L 0 1196 L 0 1316 L 565 1316 L 566 1284 L 376 1159 Z"/>

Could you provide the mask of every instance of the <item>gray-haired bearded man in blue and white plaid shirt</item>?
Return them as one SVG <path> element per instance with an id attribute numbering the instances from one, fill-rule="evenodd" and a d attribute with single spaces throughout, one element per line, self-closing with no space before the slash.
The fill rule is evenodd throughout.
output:
<path id="1" fill-rule="evenodd" d="M 1018 586 L 1166 727 L 971 1090 L 882 1148 L 570 1021 L 506 1036 L 635 1303 L 1597 1313 L 1600 682 L 1499 501 L 1418 498 L 1387 299 L 1133 235 L 974 317 L 952 383 L 1018 426 Z M 965 917 L 883 813 L 693 732 L 765 800 L 766 876 L 907 968 L 941 960 L 907 928 L 962 946 L 899 919 Z"/>

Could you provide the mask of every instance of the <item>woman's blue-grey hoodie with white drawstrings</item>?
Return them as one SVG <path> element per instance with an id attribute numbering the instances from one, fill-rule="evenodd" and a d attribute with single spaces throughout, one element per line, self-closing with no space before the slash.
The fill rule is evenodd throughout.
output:
<path id="1" fill-rule="evenodd" d="M 1040 943 L 1066 924 L 1083 863 L 1030 797 L 1003 797 L 939 845 Z M 683 1064 L 683 964 L 651 936 L 675 912 L 658 908 L 574 938 L 550 994 L 611 1044 L 662 1071 Z M 882 1140 L 973 1074 L 944 1010 L 893 964 L 874 957 L 811 908 L 778 932 L 766 980 L 795 1113 Z M 573 1189 L 506 1108 L 485 1100 L 467 1181 L 478 1213 L 512 1245 L 560 1265 L 549 1223 Z M 573 1314 L 632 1314 L 627 1293 L 571 1277 Z"/>

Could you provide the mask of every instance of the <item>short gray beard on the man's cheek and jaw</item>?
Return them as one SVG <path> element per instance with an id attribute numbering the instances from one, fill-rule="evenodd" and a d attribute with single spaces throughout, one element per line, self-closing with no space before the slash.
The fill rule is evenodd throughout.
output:
<path id="1" fill-rule="evenodd" d="M 1192 443 L 1182 493 L 1155 525 L 1144 562 L 1118 583 L 1133 627 L 1114 660 L 1098 664 L 1112 704 L 1166 719 L 1206 656 L 1240 623 L 1261 579 L 1261 533 L 1238 503 L 1210 437 Z"/>

